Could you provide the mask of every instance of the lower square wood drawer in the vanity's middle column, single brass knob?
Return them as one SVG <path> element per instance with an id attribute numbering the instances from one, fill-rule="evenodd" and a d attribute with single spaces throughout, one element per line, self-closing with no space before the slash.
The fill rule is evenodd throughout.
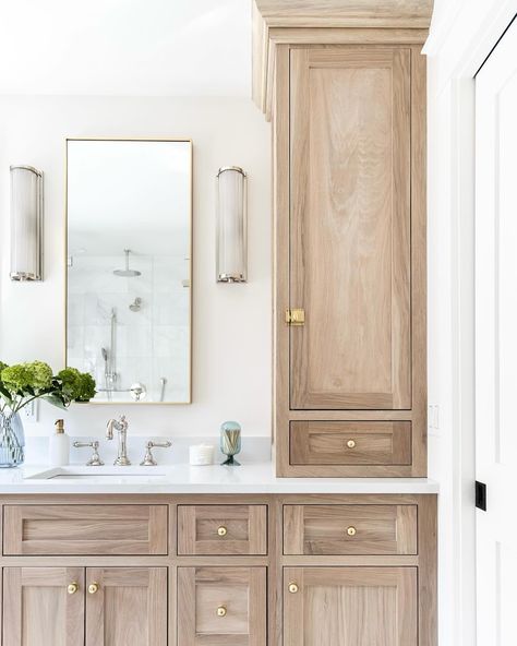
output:
<path id="1" fill-rule="evenodd" d="M 178 644 L 265 646 L 265 567 L 179 567 Z"/>

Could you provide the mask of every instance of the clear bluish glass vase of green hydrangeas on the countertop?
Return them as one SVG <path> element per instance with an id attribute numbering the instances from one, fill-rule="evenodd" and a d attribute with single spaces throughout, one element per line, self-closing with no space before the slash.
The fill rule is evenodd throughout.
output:
<path id="1" fill-rule="evenodd" d="M 75 368 L 57 374 L 43 361 L 8 366 L 0 361 L 0 467 L 23 464 L 25 439 L 20 410 L 35 399 L 45 399 L 59 408 L 72 402 L 89 402 L 95 381 Z"/>

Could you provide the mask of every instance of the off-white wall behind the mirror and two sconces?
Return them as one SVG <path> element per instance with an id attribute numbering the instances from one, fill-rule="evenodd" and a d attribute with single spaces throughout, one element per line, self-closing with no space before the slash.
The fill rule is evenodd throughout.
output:
<path id="1" fill-rule="evenodd" d="M 104 432 L 125 411 L 136 434 L 217 434 L 236 419 L 248 435 L 270 433 L 270 129 L 251 99 L 0 97 L 0 358 L 64 361 L 64 137 L 187 136 L 194 144 L 193 404 L 81 405 L 71 434 Z M 9 165 L 45 172 L 45 282 L 9 275 Z M 215 283 L 215 175 L 249 172 L 249 283 Z M 58 409 L 43 404 L 27 434 L 48 433 Z"/>

